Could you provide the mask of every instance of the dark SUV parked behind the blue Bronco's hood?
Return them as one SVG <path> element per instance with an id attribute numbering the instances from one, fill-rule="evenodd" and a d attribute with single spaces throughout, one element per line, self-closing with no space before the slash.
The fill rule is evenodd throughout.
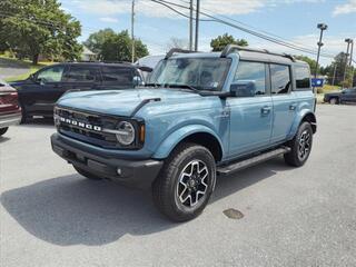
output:
<path id="1" fill-rule="evenodd" d="M 11 86 L 19 89 L 23 122 L 32 116 L 52 117 L 56 101 L 68 90 L 126 89 L 141 81 L 141 71 L 130 63 L 66 62 Z"/>

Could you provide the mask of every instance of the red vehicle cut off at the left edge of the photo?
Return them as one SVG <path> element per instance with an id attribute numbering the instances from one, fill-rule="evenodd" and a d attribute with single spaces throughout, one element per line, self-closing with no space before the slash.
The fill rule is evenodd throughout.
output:
<path id="1" fill-rule="evenodd" d="M 0 136 L 6 134 L 9 126 L 21 121 L 21 108 L 18 92 L 4 81 L 0 80 Z"/>

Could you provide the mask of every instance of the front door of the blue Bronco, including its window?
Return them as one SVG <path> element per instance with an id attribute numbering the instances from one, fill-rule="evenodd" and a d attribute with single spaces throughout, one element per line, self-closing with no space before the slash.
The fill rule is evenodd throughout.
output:
<path id="1" fill-rule="evenodd" d="M 255 96 L 228 98 L 230 108 L 229 156 L 244 156 L 269 146 L 273 102 L 267 82 L 267 65 L 240 61 L 235 77 L 237 81 L 254 81 Z"/>

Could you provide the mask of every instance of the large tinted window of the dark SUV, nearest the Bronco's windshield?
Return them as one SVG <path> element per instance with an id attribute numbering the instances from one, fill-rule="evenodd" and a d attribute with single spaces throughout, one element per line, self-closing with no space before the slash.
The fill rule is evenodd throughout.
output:
<path id="1" fill-rule="evenodd" d="M 119 85 L 132 85 L 134 70 L 122 67 L 102 67 L 102 80 L 105 82 L 115 82 Z"/>

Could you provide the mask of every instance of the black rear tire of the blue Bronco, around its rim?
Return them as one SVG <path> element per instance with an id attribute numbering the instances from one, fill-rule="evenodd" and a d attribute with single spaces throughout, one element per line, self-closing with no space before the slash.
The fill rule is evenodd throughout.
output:
<path id="1" fill-rule="evenodd" d="M 299 154 L 301 138 L 303 135 L 307 135 L 308 140 L 308 152 L 301 157 Z M 290 151 L 288 154 L 285 154 L 285 161 L 287 165 L 294 166 L 294 167 L 300 167 L 303 166 L 307 159 L 310 156 L 312 147 L 313 147 L 313 128 L 312 125 L 307 121 L 304 121 L 300 123 L 297 135 L 290 140 L 287 146 L 290 148 Z"/>

